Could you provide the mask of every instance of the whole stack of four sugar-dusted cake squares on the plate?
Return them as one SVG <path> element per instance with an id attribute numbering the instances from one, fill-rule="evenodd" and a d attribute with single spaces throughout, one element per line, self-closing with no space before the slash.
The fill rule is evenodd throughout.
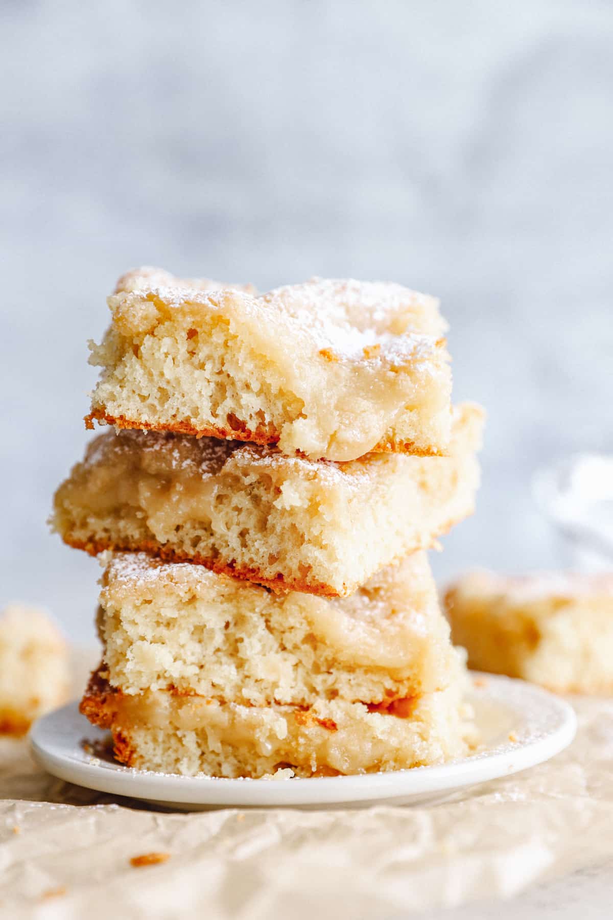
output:
<path id="1" fill-rule="evenodd" d="M 81 703 L 121 763 L 334 776 L 474 741 L 425 550 L 469 515 L 482 410 L 437 301 L 392 283 L 131 271 L 52 523 L 99 555 Z"/>

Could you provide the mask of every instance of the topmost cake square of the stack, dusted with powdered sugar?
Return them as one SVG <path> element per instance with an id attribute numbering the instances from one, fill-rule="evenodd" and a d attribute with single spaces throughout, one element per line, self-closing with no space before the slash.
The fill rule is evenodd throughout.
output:
<path id="1" fill-rule="evenodd" d="M 255 296 L 163 270 L 123 276 L 90 361 L 93 420 L 354 460 L 445 454 L 451 374 L 437 301 L 312 279 Z"/>

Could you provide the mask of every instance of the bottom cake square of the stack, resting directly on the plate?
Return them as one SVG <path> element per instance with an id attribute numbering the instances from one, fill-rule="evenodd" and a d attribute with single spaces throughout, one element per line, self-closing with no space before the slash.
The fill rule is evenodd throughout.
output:
<path id="1" fill-rule="evenodd" d="M 121 763 L 184 776 L 259 777 L 389 771 L 465 756 L 476 742 L 465 675 L 456 659 L 448 688 L 414 700 L 403 718 L 362 703 L 308 708 L 242 706 L 204 696 L 146 691 L 127 696 L 93 675 L 81 704 L 113 733 Z"/>

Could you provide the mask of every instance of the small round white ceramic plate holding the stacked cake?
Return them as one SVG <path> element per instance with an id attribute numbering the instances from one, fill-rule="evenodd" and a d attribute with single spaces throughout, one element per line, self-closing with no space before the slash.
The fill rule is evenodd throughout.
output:
<path id="1" fill-rule="evenodd" d="M 372 802 L 412 804 L 541 764 L 574 737 L 573 708 L 523 681 L 493 674 L 477 678 L 471 692 L 483 750 L 440 766 L 361 776 L 312 779 L 219 779 L 134 770 L 86 753 L 83 742 L 107 733 L 81 716 L 76 703 L 39 719 L 30 733 L 32 753 L 53 776 L 100 792 L 181 809 L 270 805 L 331 807 Z M 512 740 L 510 740 L 512 739 Z"/>

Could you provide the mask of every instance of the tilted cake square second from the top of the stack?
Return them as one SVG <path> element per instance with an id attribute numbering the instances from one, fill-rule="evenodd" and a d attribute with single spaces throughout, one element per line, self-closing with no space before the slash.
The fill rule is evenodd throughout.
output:
<path id="1" fill-rule="evenodd" d="M 142 550 L 273 590 L 346 595 L 471 514 L 482 409 L 454 411 L 446 457 L 349 463 L 162 432 L 99 435 L 58 489 L 52 526 L 90 553 Z"/>

